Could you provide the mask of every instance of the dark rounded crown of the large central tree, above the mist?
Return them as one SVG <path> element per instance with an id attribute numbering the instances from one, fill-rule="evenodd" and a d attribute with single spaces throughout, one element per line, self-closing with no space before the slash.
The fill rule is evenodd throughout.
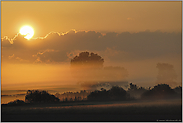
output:
<path id="1" fill-rule="evenodd" d="M 75 56 L 71 59 L 71 66 L 90 66 L 94 68 L 103 67 L 104 59 L 98 54 L 81 52 L 79 56 Z"/>

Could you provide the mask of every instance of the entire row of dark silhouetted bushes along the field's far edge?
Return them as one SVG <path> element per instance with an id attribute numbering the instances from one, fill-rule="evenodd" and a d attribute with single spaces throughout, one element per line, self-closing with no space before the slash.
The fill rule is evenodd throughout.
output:
<path id="1" fill-rule="evenodd" d="M 74 95 L 75 94 L 75 95 Z M 130 88 L 124 90 L 119 86 L 113 86 L 111 89 L 95 90 L 93 92 L 80 91 L 80 95 L 77 93 L 64 93 L 51 95 L 47 91 L 28 90 L 25 96 L 25 102 L 23 100 L 15 100 L 9 102 L 7 105 L 24 105 L 33 103 L 69 103 L 69 102 L 90 102 L 90 101 L 129 101 L 129 100 L 158 100 L 158 99 L 181 99 L 182 87 L 176 87 L 172 89 L 167 84 L 158 84 L 152 89 L 144 89 L 143 87 L 137 87 L 135 84 L 130 83 Z M 67 96 L 66 96 L 67 95 Z M 69 98 L 70 97 L 70 98 Z M 74 98 L 73 98 L 74 97 Z M 63 99 L 62 99 L 63 98 Z M 62 99 L 62 100 L 61 100 Z"/>

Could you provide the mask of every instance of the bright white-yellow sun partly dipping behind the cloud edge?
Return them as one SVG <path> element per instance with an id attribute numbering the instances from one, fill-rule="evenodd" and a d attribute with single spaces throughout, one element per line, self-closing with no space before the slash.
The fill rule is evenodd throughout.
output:
<path id="1" fill-rule="evenodd" d="M 26 38 L 26 39 L 29 40 L 29 39 L 31 39 L 31 38 L 33 37 L 33 35 L 34 35 L 34 29 L 33 29 L 31 26 L 23 26 L 23 27 L 20 28 L 19 33 L 20 33 L 21 35 L 25 35 L 24 38 Z"/>

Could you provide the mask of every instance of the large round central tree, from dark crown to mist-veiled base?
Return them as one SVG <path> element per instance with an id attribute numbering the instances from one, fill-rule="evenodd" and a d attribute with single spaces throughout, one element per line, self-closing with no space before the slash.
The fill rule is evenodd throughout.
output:
<path id="1" fill-rule="evenodd" d="M 81 52 L 71 59 L 72 76 L 79 83 L 99 81 L 104 59 L 98 54 Z"/>

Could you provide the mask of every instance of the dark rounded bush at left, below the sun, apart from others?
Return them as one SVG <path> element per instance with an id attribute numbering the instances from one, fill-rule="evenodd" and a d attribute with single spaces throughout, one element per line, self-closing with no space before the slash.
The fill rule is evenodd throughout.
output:
<path id="1" fill-rule="evenodd" d="M 60 100 L 46 91 L 28 90 L 25 101 L 29 103 L 59 102 Z"/>

